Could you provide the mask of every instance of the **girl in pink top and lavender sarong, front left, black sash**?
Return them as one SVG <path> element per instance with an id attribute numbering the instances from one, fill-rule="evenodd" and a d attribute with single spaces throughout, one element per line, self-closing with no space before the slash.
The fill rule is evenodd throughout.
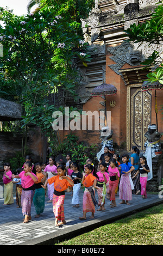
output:
<path id="1" fill-rule="evenodd" d="M 18 174 L 12 174 L 12 178 L 21 178 L 22 181 L 22 198 L 21 198 L 21 205 L 22 205 L 22 213 L 25 216 L 24 222 L 27 223 L 31 220 L 30 210 L 31 205 L 35 193 L 35 185 L 34 183 L 37 182 L 37 176 L 32 172 L 33 164 L 32 162 L 24 163 L 23 171 Z"/>

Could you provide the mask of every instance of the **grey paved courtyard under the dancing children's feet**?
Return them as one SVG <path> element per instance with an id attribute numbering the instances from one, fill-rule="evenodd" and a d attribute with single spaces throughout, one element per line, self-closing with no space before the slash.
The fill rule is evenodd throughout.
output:
<path id="1" fill-rule="evenodd" d="M 97 192 L 96 192 L 97 199 Z M 133 195 L 130 205 L 119 204 L 121 200 L 116 197 L 116 208 L 110 208 L 110 200 L 105 199 L 104 211 L 96 211 L 95 218 L 89 219 L 91 213 L 87 213 L 87 220 L 79 220 L 83 216 L 83 188 L 80 190 L 80 207 L 73 208 L 71 204 L 72 192 L 66 192 L 64 211 L 66 225 L 55 227 L 52 203 L 45 200 L 45 210 L 40 218 L 34 218 L 36 212 L 32 204 L 32 221 L 23 223 L 22 209 L 16 208 L 16 197 L 14 204 L 3 205 L 4 199 L 0 199 L 0 245 L 53 245 L 61 239 L 70 239 L 73 236 L 89 231 L 100 225 L 111 223 L 118 218 L 133 214 L 137 210 L 143 210 L 163 203 L 158 194 L 147 194 L 147 199 L 141 195 Z"/>

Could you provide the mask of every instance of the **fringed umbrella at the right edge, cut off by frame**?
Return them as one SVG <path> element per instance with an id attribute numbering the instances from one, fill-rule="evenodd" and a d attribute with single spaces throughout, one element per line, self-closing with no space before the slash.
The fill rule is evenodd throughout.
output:
<path id="1" fill-rule="evenodd" d="M 155 92 L 155 113 L 156 113 L 156 126 L 158 130 L 158 106 L 157 106 L 157 100 L 156 100 L 156 90 L 162 90 L 163 84 L 159 83 L 159 81 L 156 81 L 154 83 L 151 83 L 150 81 L 145 81 L 142 84 L 142 92 L 145 92 L 147 90 L 154 90 Z"/>

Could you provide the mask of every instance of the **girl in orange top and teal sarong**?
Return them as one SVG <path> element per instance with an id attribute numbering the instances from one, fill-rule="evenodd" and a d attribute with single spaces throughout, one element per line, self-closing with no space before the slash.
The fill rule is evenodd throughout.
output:
<path id="1" fill-rule="evenodd" d="M 39 218 L 40 214 L 42 214 L 45 209 L 45 190 L 41 185 L 43 185 L 46 180 L 46 173 L 42 173 L 42 163 L 40 162 L 35 164 L 35 168 L 38 181 L 35 182 L 35 194 L 33 197 L 33 203 L 36 210 L 35 218 Z"/>

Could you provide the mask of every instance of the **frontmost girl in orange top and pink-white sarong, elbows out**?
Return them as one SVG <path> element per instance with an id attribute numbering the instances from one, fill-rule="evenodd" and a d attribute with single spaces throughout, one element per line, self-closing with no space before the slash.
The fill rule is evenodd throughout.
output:
<path id="1" fill-rule="evenodd" d="M 65 200 L 65 190 L 68 186 L 73 186 L 73 181 L 65 176 L 66 169 L 65 166 L 61 164 L 57 167 L 57 176 L 49 178 L 45 185 L 42 186 L 46 188 L 47 184 L 52 184 L 54 182 L 54 193 L 53 193 L 53 212 L 55 215 L 55 225 L 59 226 L 61 224 L 66 224 L 64 215 L 64 200 Z M 58 221 L 61 221 L 58 223 Z"/>

